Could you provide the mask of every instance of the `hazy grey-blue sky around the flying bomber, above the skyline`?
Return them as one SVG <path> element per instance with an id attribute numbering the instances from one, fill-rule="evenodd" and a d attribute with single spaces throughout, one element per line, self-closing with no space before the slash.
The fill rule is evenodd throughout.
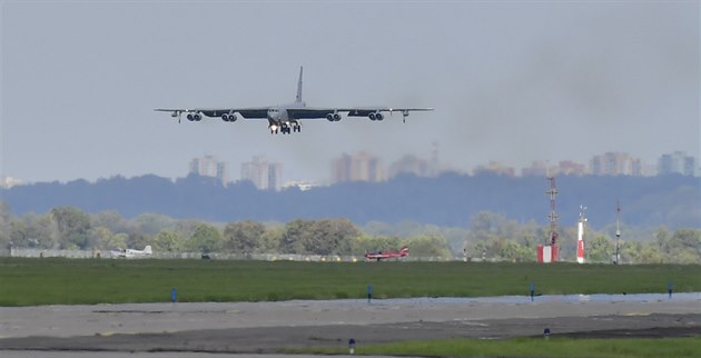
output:
<path id="1" fill-rule="evenodd" d="M 698 1 L 1 1 L 0 175 L 182 177 L 264 155 L 325 181 L 343 152 L 467 171 L 626 151 L 701 157 Z M 434 107 L 383 122 L 181 125 L 154 108 Z"/>

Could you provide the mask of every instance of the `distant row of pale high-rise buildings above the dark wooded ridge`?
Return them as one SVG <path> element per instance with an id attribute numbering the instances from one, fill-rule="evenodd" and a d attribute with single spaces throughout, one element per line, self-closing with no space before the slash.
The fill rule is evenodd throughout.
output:
<path id="1" fill-rule="evenodd" d="M 292 165 L 285 166 L 285 168 Z M 414 155 L 406 155 L 394 162 L 386 161 L 376 153 L 358 151 L 355 153 L 339 153 L 335 160 L 329 162 L 330 180 L 319 178 L 289 178 L 283 170 L 283 165 L 268 160 L 266 156 L 254 156 L 240 163 L 238 178 L 230 175 L 230 163 L 219 160 L 217 156 L 204 155 L 190 159 L 187 170 L 179 176 L 167 177 L 177 179 L 188 173 L 197 173 L 204 177 L 213 177 L 221 180 L 224 185 L 239 180 L 249 180 L 256 188 L 261 190 L 277 190 L 287 187 L 298 187 L 309 189 L 316 186 L 327 186 L 347 181 L 372 181 L 379 182 L 392 179 L 401 173 L 413 173 L 417 177 L 436 177 L 444 172 L 458 172 L 465 175 L 496 173 L 512 177 L 549 177 L 563 175 L 592 175 L 592 176 L 634 176 L 651 177 L 656 175 L 679 173 L 684 176 L 701 177 L 701 160 L 690 156 L 684 151 L 673 151 L 662 153 L 654 163 L 648 163 L 626 152 L 605 152 L 593 156 L 586 163 L 572 160 L 562 160 L 551 163 L 544 160 L 534 160 L 527 167 L 512 167 L 503 162 L 490 160 L 477 165 L 470 170 L 456 170 L 451 163 L 440 162 L 438 153 L 434 150 L 431 158 L 422 158 Z M 236 166 L 235 166 L 236 167 Z M 144 172 L 144 175 L 157 175 Z M 124 176 L 124 175 L 116 175 Z M 109 177 L 98 178 L 108 179 Z M 87 178 L 76 178 L 87 179 Z M 92 180 L 95 181 L 95 180 Z M 22 178 L 0 176 L 0 188 L 10 188 L 32 183 Z"/>

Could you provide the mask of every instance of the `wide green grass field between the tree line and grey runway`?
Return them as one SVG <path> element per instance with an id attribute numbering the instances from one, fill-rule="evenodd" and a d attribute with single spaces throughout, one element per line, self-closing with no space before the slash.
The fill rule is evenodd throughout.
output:
<path id="1" fill-rule="evenodd" d="M 0 306 L 701 291 L 701 266 L 0 259 Z"/>

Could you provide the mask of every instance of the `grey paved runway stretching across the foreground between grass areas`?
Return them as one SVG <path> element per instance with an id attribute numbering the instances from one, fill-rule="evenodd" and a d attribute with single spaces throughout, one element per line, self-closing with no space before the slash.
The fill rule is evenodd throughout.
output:
<path id="1" fill-rule="evenodd" d="M 672 337 L 701 334 L 701 300 L 461 301 L 388 299 L 234 304 L 129 304 L 0 308 L 2 357 L 66 351 L 257 355 L 407 339 L 552 335 Z M 73 355 L 75 356 L 75 355 Z M 95 355 L 93 355 L 95 356 Z M 172 356 L 172 355 L 171 355 Z M 102 357 L 102 356 L 98 356 Z M 240 357 L 240 356 L 237 356 Z"/>

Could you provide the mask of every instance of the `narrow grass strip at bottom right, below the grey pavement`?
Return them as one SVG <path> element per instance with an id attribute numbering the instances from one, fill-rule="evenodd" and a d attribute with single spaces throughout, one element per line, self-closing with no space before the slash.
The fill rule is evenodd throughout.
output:
<path id="1" fill-rule="evenodd" d="M 347 354 L 347 348 L 294 349 L 287 352 Z M 701 337 L 569 339 L 513 338 L 500 340 L 445 339 L 358 346 L 356 355 L 422 357 L 699 357 Z"/>

